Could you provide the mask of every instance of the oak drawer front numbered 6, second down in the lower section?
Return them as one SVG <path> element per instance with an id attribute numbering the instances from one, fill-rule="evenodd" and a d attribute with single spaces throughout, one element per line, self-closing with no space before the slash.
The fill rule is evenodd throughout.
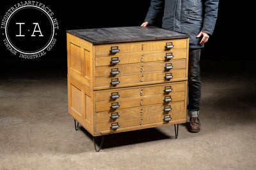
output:
<path id="1" fill-rule="evenodd" d="M 166 97 L 166 98 L 165 98 Z M 166 101 L 164 101 L 164 99 Z M 152 104 L 168 105 L 176 101 L 184 101 L 185 92 L 173 92 L 172 94 L 154 95 L 154 96 L 141 96 L 126 99 L 116 99 L 116 101 L 102 101 L 96 103 L 96 111 L 118 111 L 123 108 L 132 108 L 139 106 L 148 106 Z"/>

